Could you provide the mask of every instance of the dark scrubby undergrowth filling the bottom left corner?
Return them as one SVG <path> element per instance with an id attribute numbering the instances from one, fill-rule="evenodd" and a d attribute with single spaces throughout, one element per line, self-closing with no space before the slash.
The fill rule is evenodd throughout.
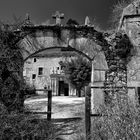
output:
<path id="1" fill-rule="evenodd" d="M 0 139 L 12 140 L 53 140 L 57 127 L 46 120 L 41 120 L 32 114 L 12 112 L 7 113 L 0 105 Z"/>

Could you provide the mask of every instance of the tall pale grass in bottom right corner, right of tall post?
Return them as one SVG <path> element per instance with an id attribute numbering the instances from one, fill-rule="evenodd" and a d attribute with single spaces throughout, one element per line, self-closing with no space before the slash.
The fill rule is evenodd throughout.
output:
<path id="1" fill-rule="evenodd" d="M 102 107 L 102 117 L 93 120 L 92 137 L 110 140 L 138 140 L 140 138 L 140 110 L 127 103 L 112 107 Z"/>

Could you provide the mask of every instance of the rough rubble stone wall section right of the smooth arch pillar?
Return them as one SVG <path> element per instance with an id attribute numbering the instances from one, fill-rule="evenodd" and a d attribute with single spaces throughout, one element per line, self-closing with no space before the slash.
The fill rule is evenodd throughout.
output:
<path id="1" fill-rule="evenodd" d="M 126 60 L 119 57 L 107 60 L 109 70 L 105 78 L 105 103 L 115 105 L 116 102 L 127 101 L 127 67 Z"/>

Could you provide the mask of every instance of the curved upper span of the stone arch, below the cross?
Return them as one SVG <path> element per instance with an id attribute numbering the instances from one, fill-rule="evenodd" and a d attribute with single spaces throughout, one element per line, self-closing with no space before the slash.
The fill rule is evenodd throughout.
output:
<path id="1" fill-rule="evenodd" d="M 105 61 L 101 46 L 108 45 L 107 41 L 104 39 L 103 33 L 96 31 L 87 21 L 85 21 L 85 25 L 64 26 L 56 23 L 55 25 L 23 26 L 18 33 L 23 36 L 23 39 L 18 42 L 18 46 L 25 61 L 41 51 L 50 49 L 58 49 L 59 52 L 75 51 L 90 61 L 95 59 L 95 55 L 99 58 L 98 53 L 100 53 L 101 59 Z M 92 45 L 93 47 L 91 47 Z M 104 65 L 107 67 L 106 62 Z M 97 69 L 100 67 L 97 66 Z M 93 72 L 92 77 L 94 77 Z"/>

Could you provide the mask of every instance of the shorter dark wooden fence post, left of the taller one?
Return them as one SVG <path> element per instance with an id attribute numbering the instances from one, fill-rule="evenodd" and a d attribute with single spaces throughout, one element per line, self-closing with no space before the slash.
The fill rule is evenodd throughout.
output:
<path id="1" fill-rule="evenodd" d="M 47 111 L 48 121 L 51 121 L 51 111 L 52 111 L 52 90 L 48 90 L 48 111 Z"/>

